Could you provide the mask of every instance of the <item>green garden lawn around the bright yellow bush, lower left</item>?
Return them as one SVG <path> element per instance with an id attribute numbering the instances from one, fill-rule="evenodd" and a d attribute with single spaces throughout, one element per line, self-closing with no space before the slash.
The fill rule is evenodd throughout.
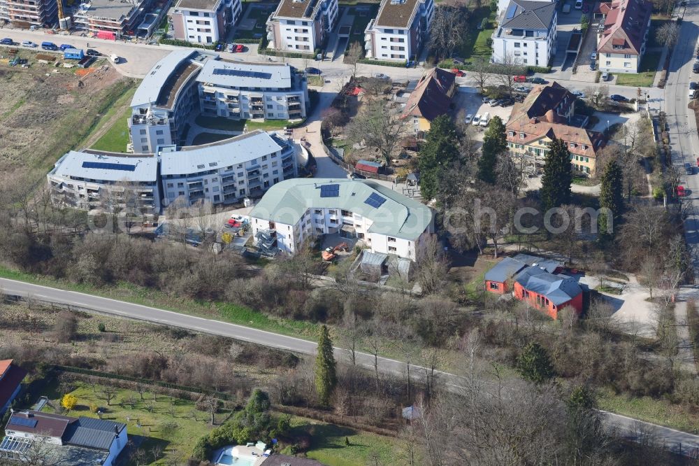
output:
<path id="1" fill-rule="evenodd" d="M 96 386 L 93 392 L 92 387 L 86 383 L 76 382 L 75 385 L 78 388 L 71 393 L 78 397 L 78 406 L 69 415 L 96 418 L 97 415 L 89 411 L 90 404 L 96 404 L 105 413 L 103 419 L 126 424 L 129 439 L 141 442 L 139 449 L 147 453 L 146 462 L 140 464 L 167 464 L 164 458 L 154 460 L 151 452 L 154 446 L 161 446 L 168 451 L 174 449 L 178 451 L 178 455 L 189 456 L 199 437 L 212 430 L 208 413 L 196 411 L 194 402 L 189 400 L 164 395 L 154 397 L 152 393 L 144 393 L 141 401 L 138 392 L 119 389 L 115 398 L 111 400 L 110 406 L 106 406 L 106 400 L 100 395 L 103 390 L 101 386 Z M 136 400 L 134 407 L 129 407 L 129 404 L 125 403 L 129 397 Z M 149 407 L 152 407 L 152 412 Z M 45 407 L 43 411 L 54 412 L 49 407 Z M 216 423 L 224 422 L 229 414 L 229 412 L 216 414 Z M 136 462 L 131 460 L 128 464 L 135 465 Z"/>

